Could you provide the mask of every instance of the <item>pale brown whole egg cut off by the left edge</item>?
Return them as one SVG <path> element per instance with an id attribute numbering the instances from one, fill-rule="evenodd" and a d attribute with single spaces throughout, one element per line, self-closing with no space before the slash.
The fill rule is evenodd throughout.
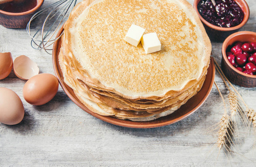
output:
<path id="1" fill-rule="evenodd" d="M 5 87 L 0 87 L 0 122 L 7 125 L 20 123 L 24 117 L 24 107 L 18 95 Z"/>

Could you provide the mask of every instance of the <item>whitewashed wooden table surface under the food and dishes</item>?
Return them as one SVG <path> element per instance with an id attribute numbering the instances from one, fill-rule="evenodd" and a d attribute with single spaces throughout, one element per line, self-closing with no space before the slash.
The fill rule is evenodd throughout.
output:
<path id="1" fill-rule="evenodd" d="M 55 1 L 46 0 L 43 7 Z M 256 32 L 256 1 L 247 2 L 250 19 L 240 31 Z M 0 26 L 0 41 L 0 52 L 11 52 L 13 59 L 29 56 L 39 65 L 40 73 L 54 74 L 51 55 L 32 49 L 26 30 Z M 221 45 L 212 43 L 212 56 L 219 64 Z M 227 95 L 218 73 L 215 81 Z M 15 91 L 25 107 L 20 124 L 0 123 L 0 166 L 256 166 L 255 134 L 240 121 L 235 153 L 227 156 L 216 148 L 217 132 L 208 132 L 208 128 L 220 121 L 224 110 L 215 86 L 187 119 L 154 129 L 130 129 L 87 114 L 61 87 L 48 104 L 32 106 L 23 99 L 24 84 L 13 71 L 0 81 L 0 87 Z M 256 88 L 235 88 L 256 110 Z"/>

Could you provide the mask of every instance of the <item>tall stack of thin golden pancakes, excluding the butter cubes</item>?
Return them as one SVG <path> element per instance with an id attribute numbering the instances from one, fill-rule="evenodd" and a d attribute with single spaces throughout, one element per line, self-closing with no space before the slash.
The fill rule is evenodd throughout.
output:
<path id="1" fill-rule="evenodd" d="M 161 51 L 124 40 L 131 24 L 156 32 Z M 59 63 L 65 83 L 99 115 L 148 121 L 179 109 L 200 91 L 211 43 L 193 7 L 181 0 L 82 1 L 64 25 Z"/>

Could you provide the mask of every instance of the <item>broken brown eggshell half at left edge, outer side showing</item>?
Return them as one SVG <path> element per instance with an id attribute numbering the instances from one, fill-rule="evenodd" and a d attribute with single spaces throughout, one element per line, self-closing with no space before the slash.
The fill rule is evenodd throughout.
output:
<path id="1" fill-rule="evenodd" d="M 6 78 L 12 71 L 12 54 L 0 53 L 0 80 Z"/>

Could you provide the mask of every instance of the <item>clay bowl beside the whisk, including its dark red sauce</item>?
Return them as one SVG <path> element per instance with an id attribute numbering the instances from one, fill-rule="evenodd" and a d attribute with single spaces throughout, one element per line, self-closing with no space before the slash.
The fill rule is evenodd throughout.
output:
<path id="1" fill-rule="evenodd" d="M 0 24 L 6 28 L 26 28 L 44 0 L 12 0 L 0 4 Z"/>

